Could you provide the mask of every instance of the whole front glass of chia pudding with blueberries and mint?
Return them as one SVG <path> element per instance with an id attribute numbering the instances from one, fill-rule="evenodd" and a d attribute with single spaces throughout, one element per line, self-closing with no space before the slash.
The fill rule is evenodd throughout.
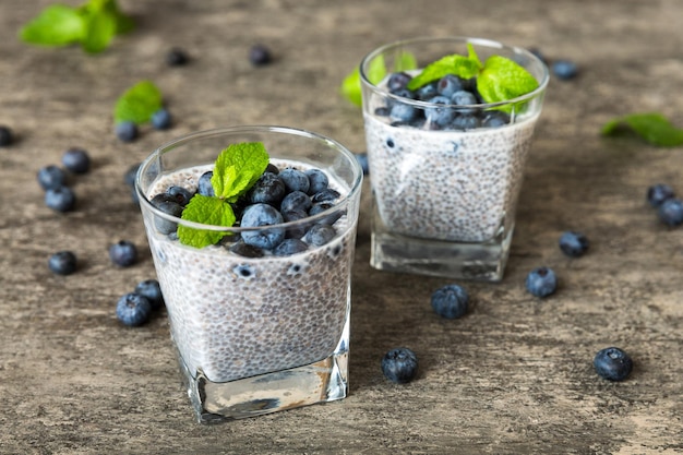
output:
<path id="1" fill-rule="evenodd" d="M 346 397 L 361 181 L 343 145 L 283 127 L 197 132 L 141 164 L 135 189 L 200 422 Z"/>

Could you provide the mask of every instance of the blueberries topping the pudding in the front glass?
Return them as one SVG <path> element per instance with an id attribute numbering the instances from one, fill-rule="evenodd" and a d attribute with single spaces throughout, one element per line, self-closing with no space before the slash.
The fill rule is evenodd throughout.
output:
<path id="1" fill-rule="evenodd" d="M 152 197 L 152 204 L 161 212 L 181 217 L 184 207 L 194 194 L 213 196 L 211 183 L 213 171 L 203 173 L 195 191 L 171 185 L 164 193 Z M 305 223 L 304 219 L 333 208 L 339 199 L 338 191 L 329 188 L 325 172 L 311 168 L 307 170 L 268 165 L 254 185 L 236 203 L 232 209 L 237 216 L 235 226 L 260 228 L 283 225 L 271 229 L 244 230 L 241 235 L 226 236 L 220 244 L 231 252 L 261 258 L 266 254 L 279 256 L 303 252 L 310 247 L 321 247 L 336 237 L 334 224 L 342 217 L 342 209 L 332 211 L 326 216 Z M 164 235 L 175 236 L 177 224 L 157 217 L 155 227 Z"/>

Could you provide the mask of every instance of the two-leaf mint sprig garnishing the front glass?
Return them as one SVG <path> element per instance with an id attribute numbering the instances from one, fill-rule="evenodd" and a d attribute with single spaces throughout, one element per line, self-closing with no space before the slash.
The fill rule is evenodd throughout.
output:
<path id="1" fill-rule="evenodd" d="M 231 202 L 247 193 L 268 166 L 269 157 L 261 142 L 231 144 L 216 158 L 211 179 L 214 196 L 195 194 L 182 211 L 181 218 L 203 225 L 230 227 L 237 220 Z M 216 244 L 229 232 L 178 226 L 182 244 L 204 248 Z"/>

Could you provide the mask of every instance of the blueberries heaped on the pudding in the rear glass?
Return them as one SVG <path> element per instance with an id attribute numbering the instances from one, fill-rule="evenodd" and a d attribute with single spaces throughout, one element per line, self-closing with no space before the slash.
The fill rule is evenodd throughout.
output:
<path id="1" fill-rule="evenodd" d="M 465 131 L 476 128 L 498 128 L 510 123 L 510 116 L 501 110 L 482 110 L 474 105 L 484 104 L 477 91 L 476 79 L 464 80 L 447 74 L 418 89 L 407 88 L 412 76 L 406 72 L 392 73 L 386 88 L 394 95 L 375 115 L 388 117 L 395 127 L 407 125 L 424 130 Z M 429 103 L 422 107 L 404 98 Z"/>

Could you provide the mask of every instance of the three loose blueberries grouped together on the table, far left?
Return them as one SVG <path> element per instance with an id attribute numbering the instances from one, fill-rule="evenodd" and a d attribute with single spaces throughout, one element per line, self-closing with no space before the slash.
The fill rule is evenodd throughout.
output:
<path id="1" fill-rule="evenodd" d="M 45 205 L 57 212 L 69 212 L 76 203 L 75 193 L 68 184 L 69 172 L 86 173 L 91 169 L 91 158 L 84 149 L 69 148 L 62 155 L 62 166 L 41 167 L 37 179 L 45 190 Z"/>

